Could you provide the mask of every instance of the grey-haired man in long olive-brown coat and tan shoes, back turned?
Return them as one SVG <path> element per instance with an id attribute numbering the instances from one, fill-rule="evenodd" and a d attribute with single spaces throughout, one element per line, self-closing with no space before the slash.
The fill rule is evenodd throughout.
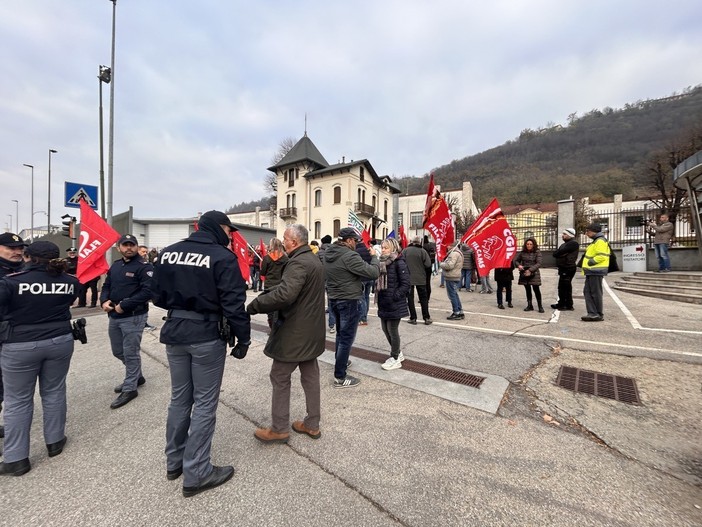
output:
<path id="1" fill-rule="evenodd" d="M 307 229 L 288 226 L 283 245 L 288 263 L 283 278 L 270 293 L 254 298 L 247 306 L 250 314 L 278 312 L 278 318 L 263 350 L 273 359 L 270 379 L 273 386 L 270 428 L 258 428 L 254 436 L 264 443 L 287 443 L 290 437 L 290 376 L 300 368 L 307 416 L 294 421 L 299 434 L 318 439 L 320 419 L 319 364 L 324 352 L 324 267 L 307 244 Z"/>

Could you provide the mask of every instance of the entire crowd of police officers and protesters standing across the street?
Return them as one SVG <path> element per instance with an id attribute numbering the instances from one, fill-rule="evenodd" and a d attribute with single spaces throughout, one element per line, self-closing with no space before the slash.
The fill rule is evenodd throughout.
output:
<path id="1" fill-rule="evenodd" d="M 668 231 L 651 226 L 660 235 Z M 131 234 L 117 242 L 120 258 L 110 267 L 102 288 L 83 287 L 76 277 L 77 255 L 60 258 L 58 247 L 47 241 L 26 244 L 12 233 L 0 235 L 0 396 L 4 393 L 4 462 L 0 473 L 26 474 L 34 386 L 39 383 L 44 408 L 44 439 L 49 456 L 62 453 L 67 442 L 66 376 L 73 353 L 75 328 L 71 306 L 99 305 L 109 317 L 112 353 L 124 367 L 122 382 L 111 408 L 118 409 L 138 396 L 146 380 L 141 368 L 140 344 L 149 305 L 166 310 L 160 342 L 165 345 L 171 377 L 171 400 L 166 423 L 166 478 L 183 476 L 183 495 L 194 496 L 217 487 L 234 474 L 231 466 L 211 462 L 211 444 L 224 372 L 227 345 L 237 359 L 251 344 L 251 315 L 266 313 L 270 333 L 264 353 L 272 359 L 271 425 L 257 428 L 263 443 L 285 443 L 290 428 L 312 439 L 321 437 L 320 369 L 326 330 L 335 334 L 332 386 L 352 388 L 361 380 L 348 373 L 350 352 L 359 327 L 368 325 L 371 298 L 389 356 L 384 370 L 402 367 L 405 360 L 400 323 L 418 323 L 416 299 L 425 325 L 430 314 L 431 281 L 441 274 L 451 304 L 448 320 L 463 320 L 461 289 L 496 293 L 497 308 L 513 308 L 512 283 L 524 287 L 525 311 L 543 313 L 541 273 L 543 258 L 537 240 L 524 240 L 508 267 L 494 270 L 496 286 L 477 276 L 469 246 L 456 241 L 443 260 L 427 237 L 413 238 L 402 248 L 394 238 L 365 243 L 352 228 L 342 228 L 336 239 L 321 244 L 309 240 L 300 224 L 288 225 L 283 239 L 273 238 L 265 256 L 252 255 L 250 283 L 245 282 L 237 256 L 230 250 L 236 227 L 226 214 L 209 211 L 198 230 L 160 253 L 139 246 Z M 585 234 L 592 239 L 578 261 L 576 231 L 562 232 L 563 244 L 554 257 L 558 266 L 558 301 L 551 307 L 573 310 L 572 280 L 577 267 L 585 275 L 583 321 L 604 320 L 602 280 L 608 272 L 611 248 L 598 224 Z M 658 239 L 658 238 L 657 238 Z M 669 238 L 668 238 L 669 241 Z M 665 250 L 664 250 L 665 249 Z M 253 252 L 253 251 L 252 251 Z M 667 246 L 657 248 L 661 271 L 670 267 Z M 258 259 L 258 261 L 257 261 Z M 475 285 L 475 287 L 473 287 Z M 247 304 L 247 289 L 259 293 Z M 536 307 L 534 307 L 534 301 Z M 30 352 L 31 351 L 31 352 Z M 300 370 L 307 414 L 290 423 L 291 378 Z M 3 402 L 0 397 L 0 403 Z"/>

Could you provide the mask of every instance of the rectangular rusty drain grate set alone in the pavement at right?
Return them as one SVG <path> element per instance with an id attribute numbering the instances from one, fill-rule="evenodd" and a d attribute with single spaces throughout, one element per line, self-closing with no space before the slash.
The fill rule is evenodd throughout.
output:
<path id="1" fill-rule="evenodd" d="M 556 384 L 574 392 L 606 397 L 622 403 L 641 404 L 636 381 L 629 377 L 561 366 Z"/>

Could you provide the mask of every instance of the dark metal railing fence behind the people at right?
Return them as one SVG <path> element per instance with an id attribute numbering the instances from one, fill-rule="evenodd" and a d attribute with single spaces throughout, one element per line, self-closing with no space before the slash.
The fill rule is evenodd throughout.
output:
<path id="1" fill-rule="evenodd" d="M 576 239 L 581 244 L 589 243 L 584 234 L 585 226 L 589 223 L 602 225 L 609 243 L 616 249 L 627 245 L 653 243 L 653 236 L 646 231 L 647 221 L 657 221 L 659 211 L 650 208 L 627 209 L 622 211 L 588 211 L 578 220 L 575 226 Z M 515 214 L 508 215 L 507 221 L 512 232 L 517 237 L 517 245 L 521 248 L 524 240 L 533 237 L 543 250 L 555 250 L 561 243 L 561 233 L 558 230 L 557 214 Z M 673 247 L 696 247 L 694 226 L 687 211 L 681 212 L 675 218 L 675 234 L 671 241 Z"/>

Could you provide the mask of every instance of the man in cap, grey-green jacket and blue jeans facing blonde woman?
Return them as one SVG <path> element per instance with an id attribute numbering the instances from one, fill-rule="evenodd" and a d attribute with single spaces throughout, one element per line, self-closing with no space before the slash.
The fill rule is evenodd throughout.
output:
<path id="1" fill-rule="evenodd" d="M 336 365 L 334 387 L 350 388 L 361 382 L 346 375 L 351 346 L 358 330 L 358 303 L 363 294 L 363 281 L 375 280 L 380 274 L 378 257 L 373 254 L 370 264 L 356 252 L 361 237 L 350 227 L 339 231 L 339 238 L 324 255 L 329 304 L 336 319 Z"/>

